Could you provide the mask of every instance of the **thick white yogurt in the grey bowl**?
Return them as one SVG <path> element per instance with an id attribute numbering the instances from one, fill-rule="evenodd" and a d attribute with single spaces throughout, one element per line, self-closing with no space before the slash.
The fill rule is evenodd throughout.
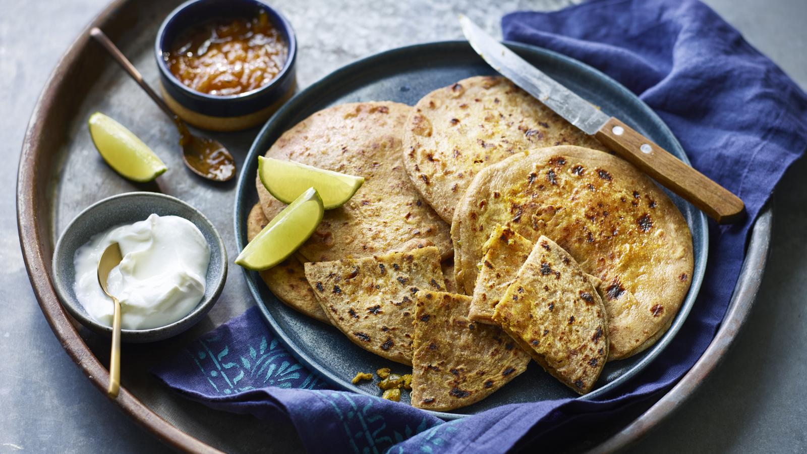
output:
<path id="1" fill-rule="evenodd" d="M 107 288 L 120 301 L 124 330 L 169 325 L 202 300 L 210 246 L 185 218 L 153 214 L 98 233 L 76 250 L 73 288 L 96 321 L 112 326 L 114 308 L 98 284 L 97 272 L 101 254 L 113 242 L 120 245 L 123 261 L 110 271 Z"/>

